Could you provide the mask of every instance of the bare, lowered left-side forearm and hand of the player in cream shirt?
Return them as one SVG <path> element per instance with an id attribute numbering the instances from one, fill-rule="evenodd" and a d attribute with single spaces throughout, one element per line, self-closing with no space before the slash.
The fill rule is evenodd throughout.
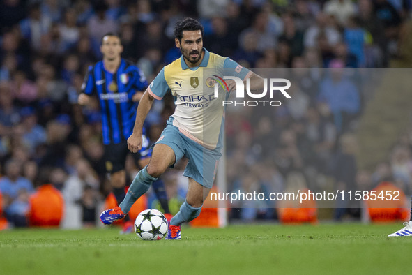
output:
<path id="1" fill-rule="evenodd" d="M 146 119 L 148 111 L 153 105 L 155 98 L 151 96 L 148 91 L 144 92 L 144 95 L 140 99 L 139 106 L 137 107 L 135 127 L 133 133 L 128 138 L 128 148 L 132 153 L 137 153 L 142 148 L 142 128 L 144 119 Z"/>

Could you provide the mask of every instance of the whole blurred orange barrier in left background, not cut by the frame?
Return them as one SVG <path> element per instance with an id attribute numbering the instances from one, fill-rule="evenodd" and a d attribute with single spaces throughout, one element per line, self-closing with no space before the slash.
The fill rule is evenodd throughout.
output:
<path id="1" fill-rule="evenodd" d="M 52 184 L 37 188 L 30 196 L 29 225 L 41 227 L 56 227 L 63 218 L 64 200 L 61 192 Z"/>

